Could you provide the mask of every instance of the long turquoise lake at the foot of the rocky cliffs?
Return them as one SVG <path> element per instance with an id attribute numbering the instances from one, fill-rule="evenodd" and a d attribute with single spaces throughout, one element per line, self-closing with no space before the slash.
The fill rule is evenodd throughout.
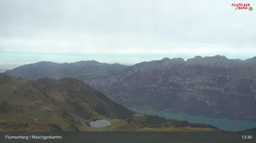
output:
<path id="1" fill-rule="evenodd" d="M 139 108 L 129 108 L 129 109 L 137 113 L 143 113 L 146 115 L 157 115 L 166 119 L 177 119 L 177 120 L 186 120 L 188 122 L 211 124 L 215 127 L 218 127 L 226 131 L 239 131 L 239 130 L 245 130 L 248 128 L 256 127 L 256 122 L 252 122 L 252 121 L 230 120 L 226 118 L 208 118 L 205 116 L 188 115 L 185 113 L 169 113 L 166 111 L 156 111 L 156 110 L 139 109 Z"/>

